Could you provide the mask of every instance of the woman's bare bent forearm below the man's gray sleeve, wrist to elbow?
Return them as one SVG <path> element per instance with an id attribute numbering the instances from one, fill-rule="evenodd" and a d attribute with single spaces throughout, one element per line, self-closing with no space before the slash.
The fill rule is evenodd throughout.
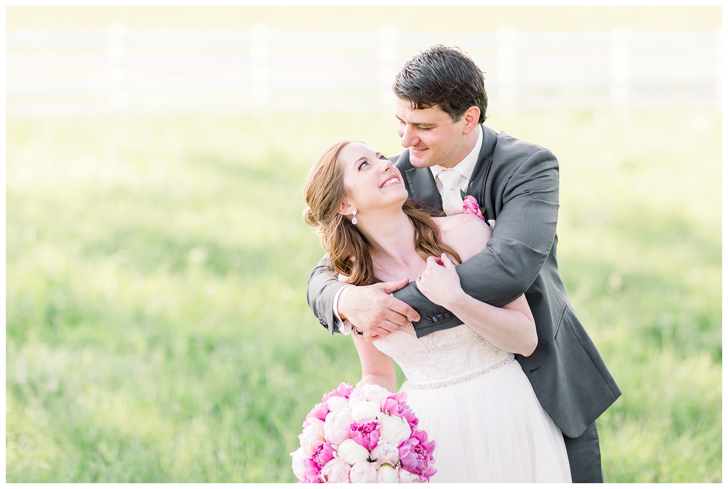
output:
<path id="1" fill-rule="evenodd" d="M 517 301 L 525 302 L 526 299 L 521 296 Z M 536 349 L 538 336 L 533 319 L 517 309 L 491 306 L 466 293 L 455 294 L 443 306 L 500 349 L 524 357 L 528 357 Z"/>

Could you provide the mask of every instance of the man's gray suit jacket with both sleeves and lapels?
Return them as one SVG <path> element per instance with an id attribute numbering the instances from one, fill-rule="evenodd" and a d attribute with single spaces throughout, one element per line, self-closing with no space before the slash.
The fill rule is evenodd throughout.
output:
<path id="1" fill-rule="evenodd" d="M 413 167 L 408 151 L 393 161 L 410 198 L 442 210 L 430 169 Z M 531 356 L 515 357 L 556 426 L 567 437 L 579 437 L 621 391 L 571 308 L 558 274 L 558 162 L 542 146 L 483 126 L 483 146 L 467 193 L 486 207 L 486 220 L 496 219 L 496 226 L 486 250 L 456 267 L 462 288 L 498 307 L 526 294 L 539 343 Z M 319 322 L 333 333 L 333 296 L 341 282 L 327 264 L 325 256 L 312 271 L 307 298 Z M 462 324 L 425 298 L 414 282 L 394 295 L 419 312 L 414 327 L 420 338 Z"/>

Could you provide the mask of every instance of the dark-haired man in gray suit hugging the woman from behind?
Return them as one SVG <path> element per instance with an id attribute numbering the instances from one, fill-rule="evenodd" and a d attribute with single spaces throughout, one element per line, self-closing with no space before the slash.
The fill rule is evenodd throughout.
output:
<path id="1" fill-rule="evenodd" d="M 558 162 L 547 149 L 482 124 L 483 73 L 456 49 L 435 46 L 412 58 L 393 90 L 397 132 L 408 151 L 392 161 L 410 198 L 449 215 L 462 212 L 462 190 L 485 207 L 486 220 L 496 220 L 486 250 L 456 267 L 462 288 L 498 307 L 526 294 L 539 343 L 531 356 L 516 358 L 563 433 L 573 482 L 602 482 L 596 418 L 621 392 L 558 274 Z M 331 333 L 353 325 L 371 339 L 411 320 L 421 338 L 462 324 L 414 282 L 342 286 L 327 265 L 325 256 L 312 271 L 307 298 Z"/>

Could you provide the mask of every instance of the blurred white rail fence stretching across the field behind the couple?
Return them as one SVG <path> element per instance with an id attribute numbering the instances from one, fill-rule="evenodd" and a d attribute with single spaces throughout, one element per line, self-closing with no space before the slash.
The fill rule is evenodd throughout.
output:
<path id="1" fill-rule="evenodd" d="M 500 111 L 721 107 L 720 31 L 149 31 L 116 23 L 6 31 L 7 113 L 389 113 L 398 69 L 432 44 L 467 52 Z"/>

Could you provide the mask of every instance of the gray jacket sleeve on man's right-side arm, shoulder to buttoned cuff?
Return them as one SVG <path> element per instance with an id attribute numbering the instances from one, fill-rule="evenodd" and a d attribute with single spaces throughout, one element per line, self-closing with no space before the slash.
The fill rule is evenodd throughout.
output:
<path id="1" fill-rule="evenodd" d="M 558 161 L 550 151 L 540 149 L 518 165 L 500 188 L 503 204 L 488 247 L 456 267 L 464 292 L 496 307 L 526 292 L 553 246 L 558 218 Z M 435 319 L 438 314 L 437 330 L 462 324 L 419 293 L 414 283 L 394 295 L 422 316 L 414 325 L 418 330 L 432 327 L 432 320 L 427 319 Z"/>

